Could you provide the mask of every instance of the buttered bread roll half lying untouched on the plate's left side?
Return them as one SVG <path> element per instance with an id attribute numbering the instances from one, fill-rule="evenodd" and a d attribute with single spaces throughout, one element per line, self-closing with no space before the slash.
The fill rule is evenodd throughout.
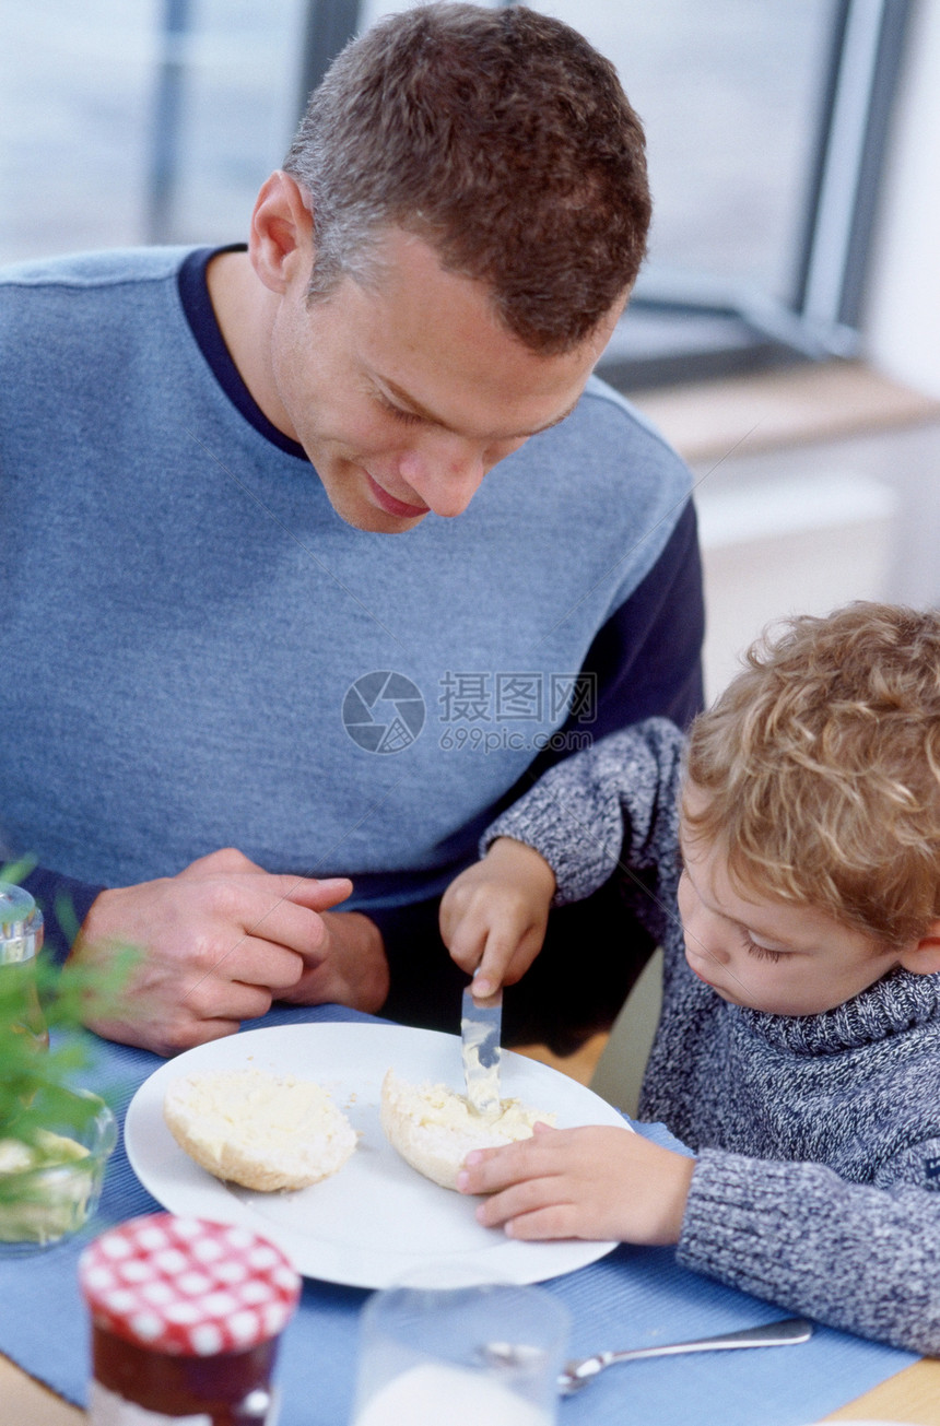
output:
<path id="1" fill-rule="evenodd" d="M 177 1079 L 163 1112 L 200 1168 L 261 1192 L 317 1184 L 342 1168 L 357 1145 L 352 1125 L 325 1089 L 262 1070 Z"/>

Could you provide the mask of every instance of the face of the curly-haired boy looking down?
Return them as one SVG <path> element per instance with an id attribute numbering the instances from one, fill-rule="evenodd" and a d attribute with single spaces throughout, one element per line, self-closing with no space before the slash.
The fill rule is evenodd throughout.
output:
<path id="1" fill-rule="evenodd" d="M 695 789 L 686 804 L 695 810 Z M 824 911 L 742 897 L 725 854 L 680 831 L 679 914 L 690 970 L 733 1005 L 817 1015 L 873 985 L 899 957 Z"/>

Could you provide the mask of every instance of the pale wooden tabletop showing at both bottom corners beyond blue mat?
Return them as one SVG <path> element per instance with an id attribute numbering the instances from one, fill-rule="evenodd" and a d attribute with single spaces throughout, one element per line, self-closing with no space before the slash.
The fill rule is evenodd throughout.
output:
<path id="1" fill-rule="evenodd" d="M 3 1420 L 16 1422 L 17 1426 L 83 1426 L 86 1419 L 77 1406 L 68 1406 L 4 1356 L 0 1356 L 0 1402 Z M 940 1360 L 914 1362 L 874 1390 L 833 1412 L 826 1420 L 940 1426 Z"/>

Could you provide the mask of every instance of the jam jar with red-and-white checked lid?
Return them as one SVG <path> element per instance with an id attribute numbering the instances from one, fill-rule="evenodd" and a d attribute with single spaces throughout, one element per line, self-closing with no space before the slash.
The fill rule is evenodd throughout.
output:
<path id="1" fill-rule="evenodd" d="M 78 1262 L 91 1315 L 93 1426 L 274 1426 L 271 1376 L 300 1278 L 265 1238 L 133 1218 Z"/>

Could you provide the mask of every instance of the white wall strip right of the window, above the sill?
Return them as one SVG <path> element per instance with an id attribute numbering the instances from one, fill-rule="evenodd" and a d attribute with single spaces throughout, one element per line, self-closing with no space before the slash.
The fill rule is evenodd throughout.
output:
<path id="1" fill-rule="evenodd" d="M 917 0 L 870 268 L 866 352 L 940 398 L 940 0 Z"/>

